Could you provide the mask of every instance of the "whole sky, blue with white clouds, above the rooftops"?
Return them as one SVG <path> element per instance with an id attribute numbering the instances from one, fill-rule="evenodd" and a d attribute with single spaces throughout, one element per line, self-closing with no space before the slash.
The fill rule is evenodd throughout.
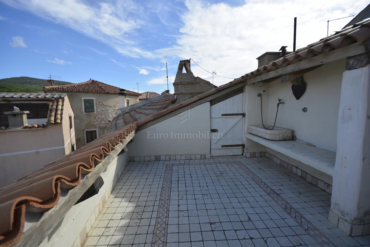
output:
<path id="1" fill-rule="evenodd" d="M 236 78 L 256 57 L 326 36 L 327 20 L 358 14 L 367 1 L 0 0 L 0 78 L 28 76 L 83 82 L 92 78 L 137 91 L 169 87 L 179 60 Z M 329 34 L 351 18 L 329 23 Z M 195 76 L 212 74 L 192 64 Z M 215 76 L 215 85 L 231 79 Z"/>

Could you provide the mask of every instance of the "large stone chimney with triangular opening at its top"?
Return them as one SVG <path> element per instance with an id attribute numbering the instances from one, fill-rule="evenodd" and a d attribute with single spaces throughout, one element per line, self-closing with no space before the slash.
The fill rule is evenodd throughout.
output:
<path id="1" fill-rule="evenodd" d="M 184 68 L 186 72 L 183 73 L 182 70 Z M 177 103 L 191 99 L 216 87 L 211 82 L 194 76 L 193 72 L 191 72 L 190 60 L 181 60 L 179 62 L 174 82 L 174 95 L 176 95 Z"/>

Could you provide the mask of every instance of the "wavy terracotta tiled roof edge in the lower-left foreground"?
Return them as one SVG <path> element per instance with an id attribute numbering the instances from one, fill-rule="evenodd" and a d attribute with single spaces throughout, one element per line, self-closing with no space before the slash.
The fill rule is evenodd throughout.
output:
<path id="1" fill-rule="evenodd" d="M 23 232 L 26 212 L 44 212 L 58 204 L 61 190 L 78 186 L 136 125 L 95 139 L 11 185 L 0 188 L 0 246 L 13 246 Z"/>

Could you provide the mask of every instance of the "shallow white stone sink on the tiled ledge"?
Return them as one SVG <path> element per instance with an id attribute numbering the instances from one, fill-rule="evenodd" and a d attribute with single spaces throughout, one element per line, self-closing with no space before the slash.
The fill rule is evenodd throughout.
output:
<path id="1" fill-rule="evenodd" d="M 270 125 L 265 125 L 265 127 L 272 128 Z M 292 129 L 275 127 L 272 130 L 267 130 L 263 128 L 263 125 L 249 125 L 248 132 L 272 141 L 292 140 L 294 135 Z"/>

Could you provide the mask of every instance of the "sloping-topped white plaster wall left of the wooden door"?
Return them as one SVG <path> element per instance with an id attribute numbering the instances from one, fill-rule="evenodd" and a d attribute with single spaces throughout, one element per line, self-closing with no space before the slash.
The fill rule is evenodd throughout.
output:
<path id="1" fill-rule="evenodd" d="M 174 137 L 175 133 L 198 135 L 199 133 L 205 133 L 205 131 L 209 132 L 210 129 L 210 104 L 206 102 L 182 114 L 178 114 L 138 131 L 135 134 L 134 142 L 128 145 L 130 155 L 208 154 L 211 152 L 211 140 L 209 138 L 178 139 Z M 168 136 L 168 138 L 165 138 L 165 136 Z"/>

